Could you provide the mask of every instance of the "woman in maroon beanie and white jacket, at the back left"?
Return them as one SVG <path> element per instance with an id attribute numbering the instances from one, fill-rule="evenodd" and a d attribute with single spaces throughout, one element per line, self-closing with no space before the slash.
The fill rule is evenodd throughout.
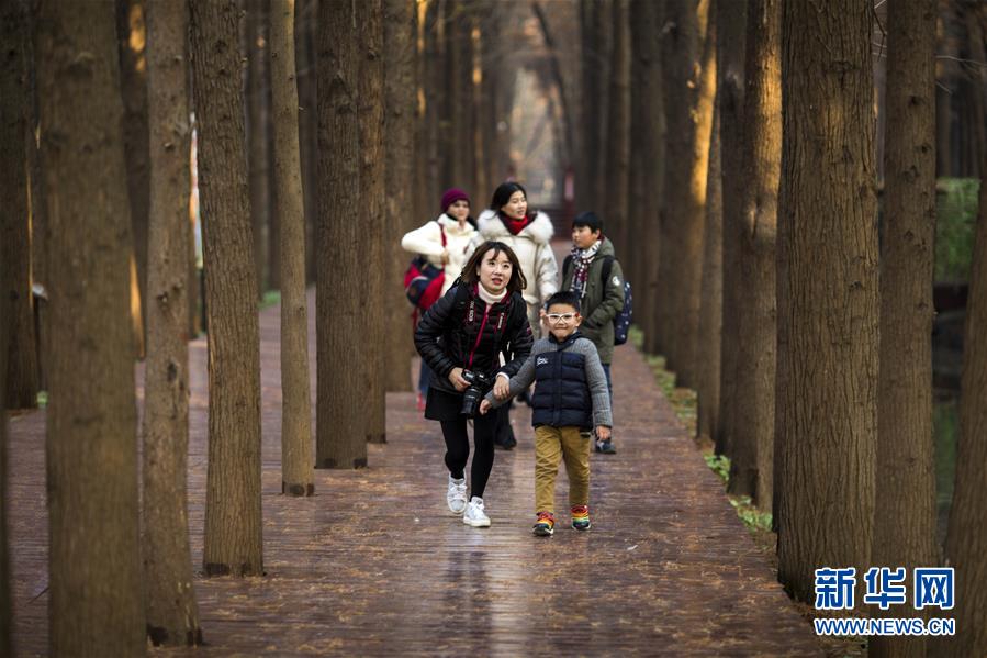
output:
<path id="1" fill-rule="evenodd" d="M 466 265 L 468 254 L 476 228 L 470 216 L 470 197 L 459 188 L 446 190 L 441 201 L 442 212 L 438 218 L 419 228 L 404 234 L 401 238 L 401 248 L 412 254 L 422 254 L 429 263 L 442 268 L 445 282 L 441 298 L 452 287 L 456 279 Z M 418 372 L 418 411 L 425 409 L 425 395 L 428 392 L 428 382 L 431 372 L 425 361 Z"/>

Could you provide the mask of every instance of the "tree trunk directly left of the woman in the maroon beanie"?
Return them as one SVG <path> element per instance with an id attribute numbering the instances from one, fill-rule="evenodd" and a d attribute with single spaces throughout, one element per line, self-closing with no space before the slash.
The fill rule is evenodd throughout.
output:
<path id="1" fill-rule="evenodd" d="M 384 62 L 385 93 L 384 142 L 388 144 L 386 183 L 386 230 L 384 244 L 388 245 L 385 263 L 388 314 L 384 328 L 384 371 L 388 391 L 410 391 L 408 375 L 412 353 L 412 332 L 407 299 L 397 281 L 404 276 L 407 253 L 401 248 L 401 236 L 411 231 L 415 222 L 422 222 L 412 210 L 415 207 L 415 34 L 417 21 L 414 0 L 386 0 L 384 7 Z"/>

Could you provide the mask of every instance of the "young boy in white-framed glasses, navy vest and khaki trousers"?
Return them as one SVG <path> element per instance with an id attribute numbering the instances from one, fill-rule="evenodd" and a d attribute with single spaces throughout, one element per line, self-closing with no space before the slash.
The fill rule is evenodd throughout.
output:
<path id="1" fill-rule="evenodd" d="M 610 398 L 606 375 L 596 347 L 579 333 L 580 295 L 557 292 L 548 300 L 549 335 L 535 343 L 531 356 L 509 379 L 504 400 L 489 393 L 480 413 L 504 404 L 512 395 L 536 382 L 531 397 L 535 425 L 535 513 L 532 532 L 551 536 L 556 527 L 554 498 L 559 460 L 569 473 L 569 505 L 572 527 L 590 529 L 590 438 L 596 428 L 601 440 L 610 435 Z M 505 375 L 506 377 L 506 375 Z"/>

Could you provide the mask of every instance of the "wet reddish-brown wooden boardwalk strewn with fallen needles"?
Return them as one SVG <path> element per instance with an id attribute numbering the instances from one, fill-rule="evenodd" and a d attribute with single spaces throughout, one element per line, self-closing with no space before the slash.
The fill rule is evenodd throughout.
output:
<path id="1" fill-rule="evenodd" d="M 517 449 L 496 454 L 487 529 L 448 513 L 438 424 L 420 419 L 411 393 L 388 395 L 389 443 L 369 446 L 369 468 L 318 470 L 314 498 L 280 495 L 279 322 L 277 308 L 262 312 L 267 576 L 197 578 L 208 646 L 156 654 L 823 654 L 632 347 L 618 348 L 614 363 L 619 451 L 593 455 L 593 529 L 568 527 L 561 475 L 559 529 L 538 538 L 530 534 L 527 408 L 514 413 Z M 313 381 L 314 335 L 313 327 Z M 191 363 L 190 531 L 198 568 L 203 341 L 192 344 Z M 47 651 L 44 422 L 40 411 L 10 425 L 15 640 L 23 656 Z"/>

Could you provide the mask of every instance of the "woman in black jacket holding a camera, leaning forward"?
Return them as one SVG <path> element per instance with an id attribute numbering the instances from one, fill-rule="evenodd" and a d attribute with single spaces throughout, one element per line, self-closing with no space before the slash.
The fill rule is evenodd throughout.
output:
<path id="1" fill-rule="evenodd" d="M 526 285 L 511 247 L 485 242 L 463 266 L 459 281 L 428 309 L 415 332 L 415 347 L 436 375 L 428 388 L 425 417 L 441 423 L 446 439 L 446 503 L 473 527 L 490 525 L 483 492 L 493 468 L 496 424 L 494 415 L 479 415 L 476 409 L 491 388 L 496 398 L 507 397 L 509 378 L 531 352 L 534 339 L 521 297 Z M 473 419 L 475 446 L 469 498 L 468 419 Z"/>

